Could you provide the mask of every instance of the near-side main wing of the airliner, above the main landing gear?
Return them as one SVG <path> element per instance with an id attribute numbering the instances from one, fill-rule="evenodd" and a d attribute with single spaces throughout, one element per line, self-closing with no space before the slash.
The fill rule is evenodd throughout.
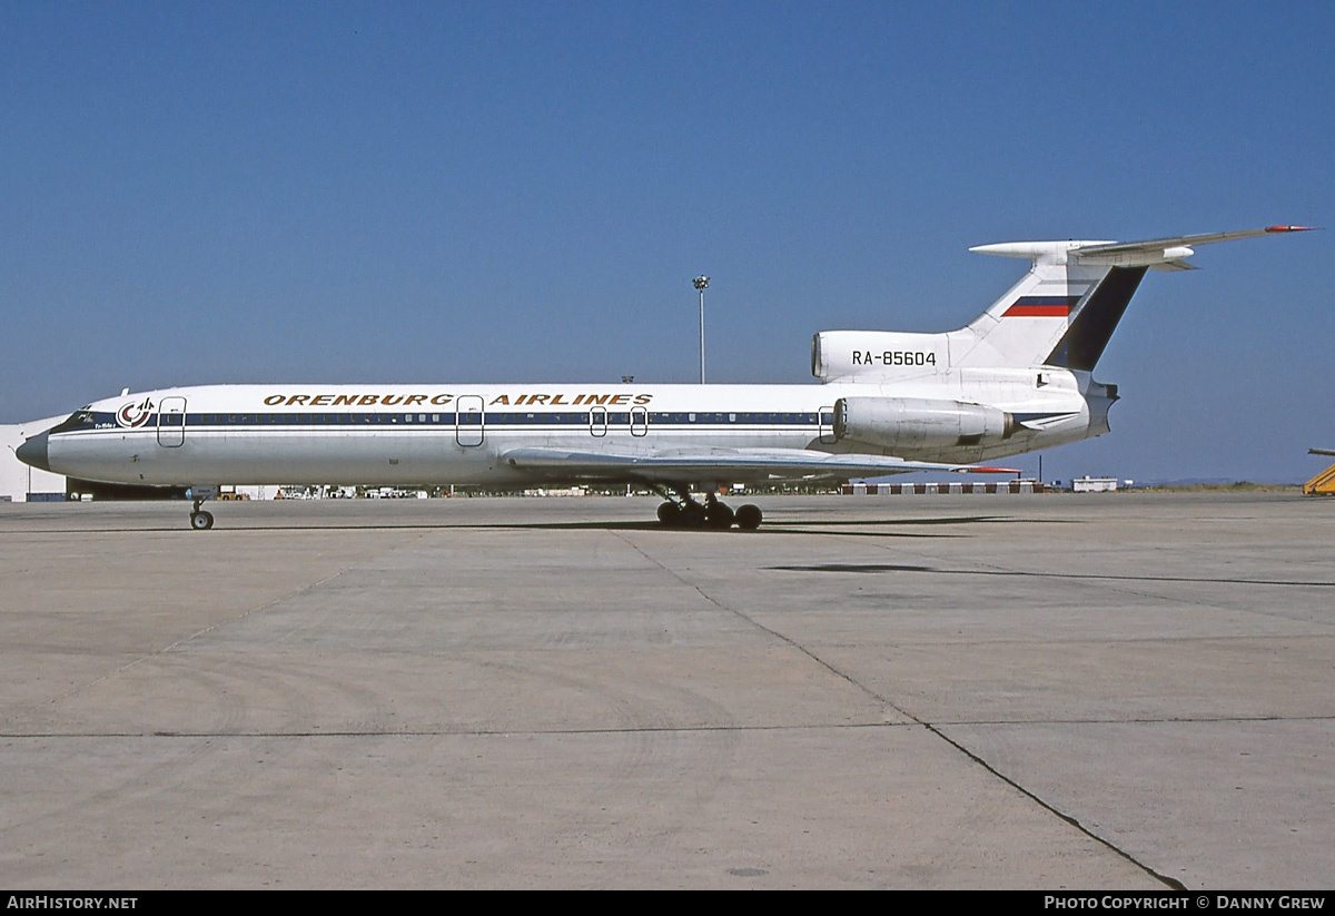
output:
<path id="1" fill-rule="evenodd" d="M 849 479 L 910 471 L 1015 474 L 1008 467 L 943 465 L 890 455 L 849 455 L 804 449 L 709 449 L 689 453 L 618 454 L 569 449 L 511 449 L 501 459 L 517 470 L 562 481 L 678 483 Z"/>

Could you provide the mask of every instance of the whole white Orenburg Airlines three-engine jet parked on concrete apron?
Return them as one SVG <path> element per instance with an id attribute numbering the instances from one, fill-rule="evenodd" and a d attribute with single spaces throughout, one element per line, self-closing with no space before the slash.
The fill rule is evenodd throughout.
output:
<path id="1" fill-rule="evenodd" d="M 631 483 L 669 527 L 758 527 L 721 485 L 840 481 L 976 466 L 1108 431 L 1093 381 L 1148 270 L 1270 226 L 1144 242 L 1009 242 L 971 251 L 1028 272 L 965 327 L 821 331 L 818 385 L 218 385 L 96 401 L 17 457 L 83 481 L 188 487 L 191 527 L 219 483 Z M 1013 471 L 1011 471 L 1013 473 Z M 698 501 L 693 491 L 709 495 Z"/>

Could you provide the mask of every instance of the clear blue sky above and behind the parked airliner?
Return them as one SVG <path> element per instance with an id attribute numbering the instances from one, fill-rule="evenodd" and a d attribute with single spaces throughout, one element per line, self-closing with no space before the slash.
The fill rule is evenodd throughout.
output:
<path id="1" fill-rule="evenodd" d="M 1331 3 L 0 5 L 0 422 L 214 382 L 809 381 L 988 242 L 1335 226 Z M 1335 231 L 1151 272 L 1047 477 L 1298 481 Z M 1028 457 L 1021 466 L 1035 465 Z"/>

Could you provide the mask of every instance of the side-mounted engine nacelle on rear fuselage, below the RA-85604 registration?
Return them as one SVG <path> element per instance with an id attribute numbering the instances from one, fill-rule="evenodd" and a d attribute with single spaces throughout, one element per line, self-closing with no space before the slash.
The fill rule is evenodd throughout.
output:
<path id="1" fill-rule="evenodd" d="M 889 449 L 953 449 L 1004 442 L 1021 429 L 995 407 L 928 398 L 840 398 L 834 438 Z"/>

